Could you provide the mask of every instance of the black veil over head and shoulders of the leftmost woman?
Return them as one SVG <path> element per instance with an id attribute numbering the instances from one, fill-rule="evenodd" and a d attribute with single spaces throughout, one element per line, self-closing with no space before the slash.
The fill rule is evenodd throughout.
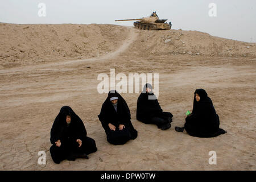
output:
<path id="1" fill-rule="evenodd" d="M 71 117 L 71 123 L 67 125 L 67 115 Z M 69 137 L 72 140 L 83 139 L 87 135 L 84 123 L 78 115 L 69 106 L 63 106 L 60 113 L 55 118 L 51 129 L 51 143 L 54 144 L 57 140 L 63 140 Z"/>

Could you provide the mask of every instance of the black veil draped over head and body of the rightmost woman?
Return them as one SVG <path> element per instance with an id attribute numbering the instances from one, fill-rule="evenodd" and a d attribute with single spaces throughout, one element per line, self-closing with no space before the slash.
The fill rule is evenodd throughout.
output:
<path id="1" fill-rule="evenodd" d="M 196 101 L 196 93 L 200 96 L 200 101 Z M 212 100 L 208 97 L 207 92 L 204 89 L 196 89 L 193 100 L 193 110 L 191 115 L 193 125 L 196 126 L 196 130 L 199 135 L 211 136 L 215 133 L 223 133 L 219 128 L 220 120 L 214 109 Z M 225 133 L 226 131 L 224 131 Z M 214 136 L 213 136 L 214 137 Z"/>

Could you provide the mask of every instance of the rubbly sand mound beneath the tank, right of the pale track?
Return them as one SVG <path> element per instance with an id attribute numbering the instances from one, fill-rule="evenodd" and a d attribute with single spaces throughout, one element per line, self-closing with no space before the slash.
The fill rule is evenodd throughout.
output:
<path id="1" fill-rule="evenodd" d="M 256 44 L 211 36 L 199 31 L 140 31 L 134 51 L 144 55 L 256 56 Z"/>

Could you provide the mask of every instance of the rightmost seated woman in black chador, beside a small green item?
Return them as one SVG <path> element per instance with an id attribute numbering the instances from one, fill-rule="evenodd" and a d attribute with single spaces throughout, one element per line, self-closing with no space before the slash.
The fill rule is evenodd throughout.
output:
<path id="1" fill-rule="evenodd" d="M 219 126 L 220 119 L 212 100 L 207 96 L 204 89 L 196 89 L 192 113 L 185 119 L 184 127 L 176 126 L 175 130 L 183 132 L 185 129 L 193 137 L 209 138 L 226 133 Z"/>

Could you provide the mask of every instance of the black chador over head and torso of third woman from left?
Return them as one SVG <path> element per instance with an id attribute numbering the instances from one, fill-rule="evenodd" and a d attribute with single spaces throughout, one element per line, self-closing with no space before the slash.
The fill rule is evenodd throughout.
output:
<path id="1" fill-rule="evenodd" d="M 150 88 L 151 92 L 146 92 L 146 88 Z M 146 122 L 149 118 L 158 116 L 163 113 L 161 106 L 152 92 L 152 85 L 145 84 L 142 93 L 137 100 L 136 117 L 139 121 Z"/>

